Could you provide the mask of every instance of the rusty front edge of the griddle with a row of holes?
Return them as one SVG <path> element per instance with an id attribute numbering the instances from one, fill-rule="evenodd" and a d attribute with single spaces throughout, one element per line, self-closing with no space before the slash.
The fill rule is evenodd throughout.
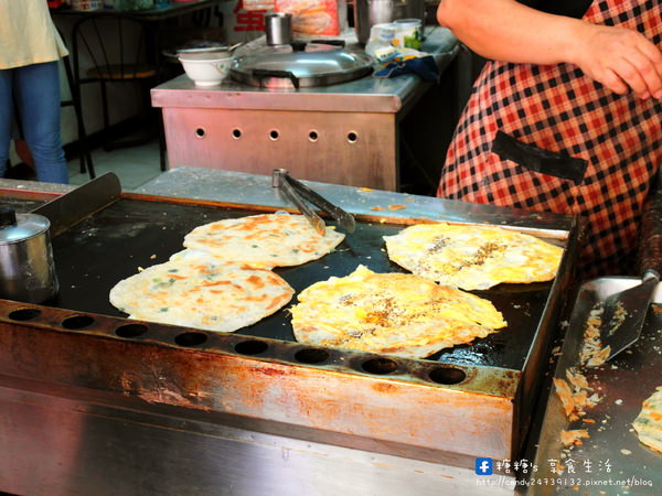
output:
<path id="1" fill-rule="evenodd" d="M 10 301 L 0 308 L 0 374 L 8 377 L 107 391 L 146 408 L 252 418 L 435 456 L 514 454 L 512 396 L 519 371 L 334 349 L 328 363 L 307 364 L 295 357 L 310 347 L 297 343 Z M 145 333 L 121 337 L 122 328 Z M 200 336 L 205 336 L 201 343 Z M 246 343 L 249 351 L 261 349 L 250 347 L 256 343 L 267 346 L 253 355 L 237 352 Z M 396 367 L 370 373 L 362 368 L 370 360 Z M 433 381 L 430 374 L 444 368 L 467 378 L 458 385 Z"/>

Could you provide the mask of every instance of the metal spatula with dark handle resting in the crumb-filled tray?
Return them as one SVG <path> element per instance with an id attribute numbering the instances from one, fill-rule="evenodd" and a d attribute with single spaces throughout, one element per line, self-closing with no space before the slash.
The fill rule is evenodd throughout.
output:
<path id="1" fill-rule="evenodd" d="M 640 266 L 642 282 L 612 294 L 605 301 L 600 341 L 609 346 L 607 359 L 637 342 L 641 335 L 645 314 L 662 274 L 662 188 L 661 179 L 652 193 L 641 224 Z"/>

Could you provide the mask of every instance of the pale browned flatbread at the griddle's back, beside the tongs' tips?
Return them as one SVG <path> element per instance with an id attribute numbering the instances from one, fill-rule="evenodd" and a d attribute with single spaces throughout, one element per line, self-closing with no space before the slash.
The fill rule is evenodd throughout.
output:
<path id="1" fill-rule="evenodd" d="M 343 239 L 331 228 L 320 236 L 302 215 L 264 214 L 199 226 L 184 246 L 250 266 L 286 267 L 321 258 Z"/>

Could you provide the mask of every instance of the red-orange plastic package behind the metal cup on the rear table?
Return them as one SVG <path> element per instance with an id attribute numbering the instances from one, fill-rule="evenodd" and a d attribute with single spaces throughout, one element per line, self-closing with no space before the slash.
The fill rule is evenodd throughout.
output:
<path id="1" fill-rule="evenodd" d="M 275 0 L 276 12 L 292 14 L 292 33 L 338 36 L 348 25 L 345 0 Z"/>

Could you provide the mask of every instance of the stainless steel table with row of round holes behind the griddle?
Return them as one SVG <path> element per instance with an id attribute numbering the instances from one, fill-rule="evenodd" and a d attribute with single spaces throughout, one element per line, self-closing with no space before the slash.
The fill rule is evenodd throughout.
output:
<path id="1" fill-rule="evenodd" d="M 349 50 L 361 50 L 353 31 L 345 39 Z M 434 28 L 423 50 L 442 72 L 459 42 Z M 203 89 L 182 75 L 153 88 L 152 105 L 163 111 L 171 168 L 257 174 L 286 168 L 300 179 L 397 191 L 399 125 L 433 86 L 405 75 L 280 91 L 227 79 Z"/>

